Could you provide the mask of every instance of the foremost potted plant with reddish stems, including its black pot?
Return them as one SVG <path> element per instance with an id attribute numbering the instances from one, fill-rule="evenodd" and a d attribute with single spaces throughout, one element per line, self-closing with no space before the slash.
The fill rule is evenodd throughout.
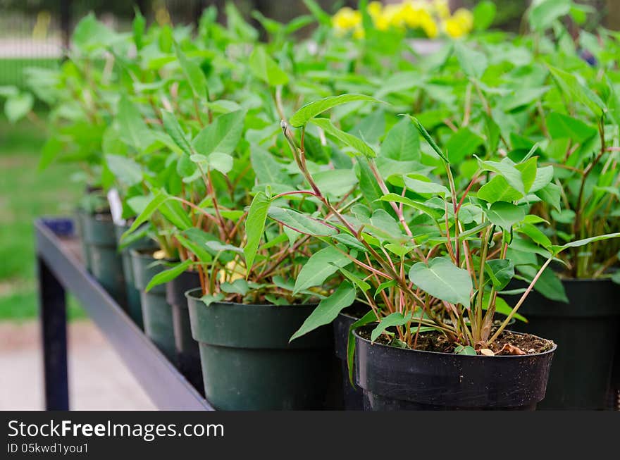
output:
<path id="1" fill-rule="evenodd" d="M 356 330 L 354 342 L 349 343 L 351 349 L 355 344 L 356 380 L 364 388 L 366 408 L 535 407 L 545 395 L 555 345 L 510 332 L 507 323 L 557 254 L 619 235 L 545 248 L 547 261 L 510 308 L 498 294 L 514 275 L 514 262 L 507 259 L 511 230 L 519 223 L 537 220 L 528 215 L 526 194 L 546 187 L 551 180 L 536 166 L 537 158 L 530 154 L 520 163 L 508 158 L 481 161 L 473 182 L 487 173 L 488 182 L 476 192 L 468 187 L 459 196 L 447 156 L 414 120 L 445 164 L 449 187 L 415 173 L 392 177 L 387 184 L 374 173 L 380 189 L 378 201 L 388 204 L 391 212 L 357 207 L 341 213 L 325 199 L 304 165 L 303 139 L 306 123 L 318 125 L 361 154 L 360 163 L 376 171 L 368 144 L 343 135 L 328 119 L 314 118 L 343 102 L 347 99 L 323 99 L 292 116 L 290 124 L 302 132 L 299 147 L 286 123 L 283 128 L 311 193 L 330 216 L 323 223 L 339 230 L 339 238 L 325 240 L 333 247 L 346 241 L 347 248 L 365 249 L 365 260 L 354 260 L 356 270 L 343 273 L 372 309 L 356 326 L 378 321 L 373 328 Z M 507 182 L 504 188 L 514 190 L 510 201 L 498 200 L 492 191 L 502 181 Z M 404 209 L 413 210 L 413 215 L 406 215 Z M 276 207 L 269 215 L 286 222 Z M 410 219 L 418 219 L 417 225 L 410 225 Z M 420 220 L 428 222 L 428 227 L 420 225 Z M 319 307 L 292 339 L 332 321 L 340 307 Z M 507 318 L 495 326 L 493 316 L 500 310 L 507 312 Z M 478 354 L 484 356 L 473 356 Z M 493 371 L 487 373 L 485 369 L 490 368 Z"/>

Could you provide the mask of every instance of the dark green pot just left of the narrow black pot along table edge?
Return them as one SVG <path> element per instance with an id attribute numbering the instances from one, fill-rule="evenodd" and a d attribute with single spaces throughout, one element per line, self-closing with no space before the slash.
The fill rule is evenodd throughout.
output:
<path id="1" fill-rule="evenodd" d="M 166 266 L 156 263 L 151 250 L 131 249 L 130 255 L 135 286 L 140 290 L 144 332 L 176 364 L 172 307 L 166 302 L 166 285 L 155 286 L 149 292 L 144 291 L 151 278 L 166 270 Z"/>

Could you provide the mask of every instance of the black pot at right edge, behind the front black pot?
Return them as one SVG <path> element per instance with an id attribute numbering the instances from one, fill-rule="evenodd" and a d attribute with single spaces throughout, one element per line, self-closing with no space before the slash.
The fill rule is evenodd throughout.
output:
<path id="1" fill-rule="evenodd" d="M 610 280 L 563 280 L 569 304 L 532 292 L 515 329 L 547 337 L 559 351 L 539 409 L 606 409 L 620 341 L 620 285 Z"/>

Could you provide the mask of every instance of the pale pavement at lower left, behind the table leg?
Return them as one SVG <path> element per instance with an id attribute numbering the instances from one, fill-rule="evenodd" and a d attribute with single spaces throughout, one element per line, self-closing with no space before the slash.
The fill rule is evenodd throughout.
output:
<path id="1" fill-rule="evenodd" d="M 90 321 L 73 321 L 68 335 L 71 409 L 156 409 Z M 0 410 L 43 409 L 42 369 L 39 323 L 0 323 Z"/>

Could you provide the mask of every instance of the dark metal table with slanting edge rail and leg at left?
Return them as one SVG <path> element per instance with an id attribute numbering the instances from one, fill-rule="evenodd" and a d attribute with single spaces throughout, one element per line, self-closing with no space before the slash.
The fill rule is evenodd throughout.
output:
<path id="1" fill-rule="evenodd" d="M 68 290 L 159 409 L 213 410 L 86 271 L 80 261 L 74 228 L 70 218 L 35 221 L 46 409 L 69 409 L 65 295 Z"/>

